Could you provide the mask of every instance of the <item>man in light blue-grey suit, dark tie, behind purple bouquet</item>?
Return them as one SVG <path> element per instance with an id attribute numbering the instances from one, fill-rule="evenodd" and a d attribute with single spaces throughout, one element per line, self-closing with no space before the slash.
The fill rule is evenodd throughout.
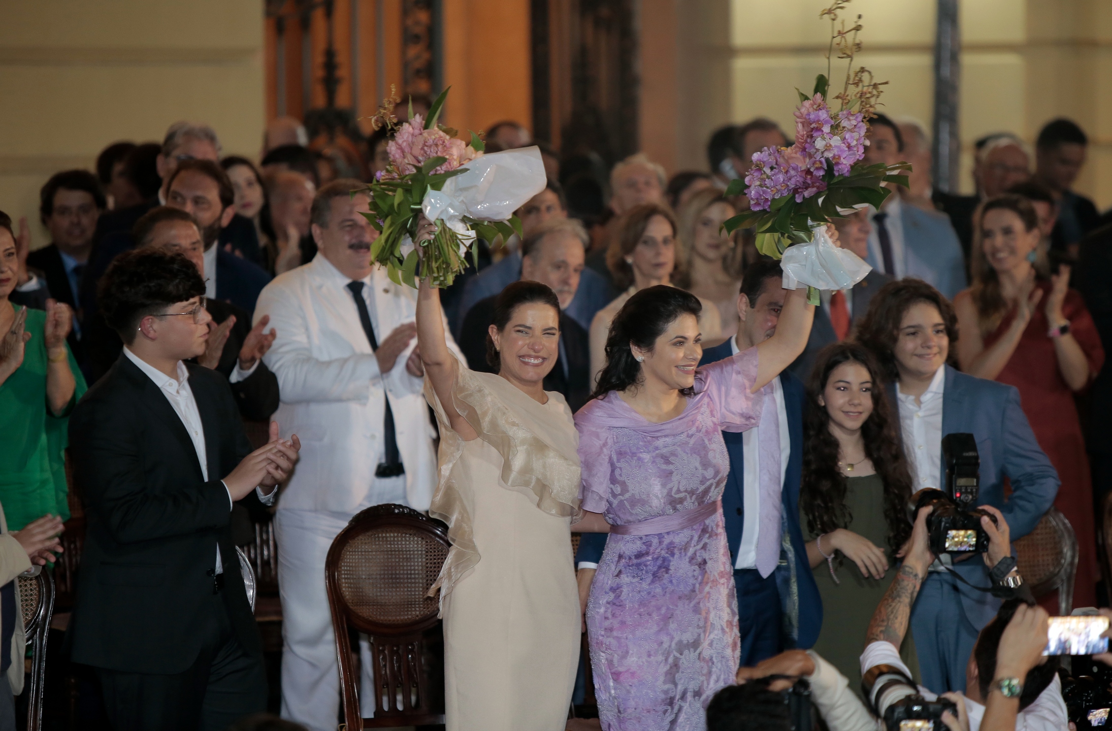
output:
<path id="1" fill-rule="evenodd" d="M 903 138 L 895 123 L 884 114 L 870 120 L 868 142 L 866 163 L 901 161 Z M 885 199 L 881 210 L 871 212 L 870 222 L 873 232 L 868 236 L 866 261 L 873 269 L 895 279 L 922 279 L 947 299 L 965 289 L 962 246 L 945 213 L 905 203 L 897 189 Z"/>

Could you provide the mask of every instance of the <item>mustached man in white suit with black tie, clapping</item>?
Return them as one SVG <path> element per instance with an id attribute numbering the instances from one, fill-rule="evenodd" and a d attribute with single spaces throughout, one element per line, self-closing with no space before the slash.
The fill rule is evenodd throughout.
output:
<path id="1" fill-rule="evenodd" d="M 311 213 L 317 256 L 267 284 L 255 309 L 256 319 L 270 316 L 282 333 L 264 359 L 281 392 L 275 419 L 302 443 L 275 518 L 281 715 L 314 731 L 335 729 L 339 709 L 325 593 L 332 539 L 375 504 L 428 510 L 437 480 L 435 432 L 415 349 L 416 291 L 371 266 L 375 230 L 361 216 L 369 199 L 350 194 L 360 188 L 357 180 L 336 180 L 320 189 Z M 366 647 L 364 657 L 369 669 Z M 373 695 L 369 674 L 361 695 Z"/>

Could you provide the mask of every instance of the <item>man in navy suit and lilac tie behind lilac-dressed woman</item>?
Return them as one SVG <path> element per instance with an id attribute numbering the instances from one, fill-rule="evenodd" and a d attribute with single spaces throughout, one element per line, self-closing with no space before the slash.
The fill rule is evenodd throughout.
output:
<path id="1" fill-rule="evenodd" d="M 713 363 L 748 350 L 776 331 L 785 290 L 778 261 L 762 259 L 745 270 L 737 297 L 741 326 L 737 336 L 703 351 L 699 364 Z M 726 540 L 734 564 L 737 612 L 742 634 L 742 665 L 754 665 L 785 649 L 810 648 L 818 638 L 823 622 L 822 599 L 807 561 L 800 529 L 800 475 L 803 469 L 803 383 L 788 371 L 773 379 L 776 410 L 780 415 L 781 465 L 774 473 L 777 484 L 758 484 L 759 427 L 734 433 L 723 432 L 729 453 L 729 474 L 722 495 Z M 775 497 L 773 505 L 764 503 Z M 775 535 L 762 533 L 770 507 L 780 513 Z M 772 541 L 778 547 L 780 561 L 758 565 L 758 545 Z M 580 587 L 602 558 L 606 537 L 584 533 L 577 563 Z M 589 583 L 587 583 L 589 585 Z"/>

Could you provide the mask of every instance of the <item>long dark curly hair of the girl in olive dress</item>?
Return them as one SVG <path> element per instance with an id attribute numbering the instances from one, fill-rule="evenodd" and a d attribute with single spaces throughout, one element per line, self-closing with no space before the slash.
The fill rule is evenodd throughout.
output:
<path id="1" fill-rule="evenodd" d="M 848 487 L 838 469 L 838 441 L 831 433 L 831 417 L 818 402 L 835 368 L 858 363 L 873 379 L 873 413 L 861 427 L 865 455 L 884 482 L 884 519 L 888 523 L 888 548 L 895 553 L 911 537 L 907 500 L 911 499 L 911 470 L 900 440 L 898 421 L 893 420 L 884 378 L 876 359 L 855 342 L 827 346 L 820 351 L 807 381 L 807 403 L 803 422 L 803 480 L 800 510 L 807 517 L 812 534 L 847 528 L 853 520 L 845 504 Z"/>

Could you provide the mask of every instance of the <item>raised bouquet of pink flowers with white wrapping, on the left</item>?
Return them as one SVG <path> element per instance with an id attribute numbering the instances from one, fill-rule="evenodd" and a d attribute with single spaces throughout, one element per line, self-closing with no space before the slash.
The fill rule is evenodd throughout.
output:
<path id="1" fill-rule="evenodd" d="M 536 148 L 484 156 L 478 134 L 471 132 L 467 143 L 456 139 L 456 130 L 437 124 L 447 94 L 445 89 L 437 97 L 427 119 L 414 114 L 410 103 L 409 121 L 398 124 L 391 114 L 399 101 L 394 97 L 384 100 L 371 119 L 375 129 L 394 130 L 387 143 L 390 164 L 367 189 L 371 200 L 365 216 L 379 231 L 371 260 L 385 266 L 395 282 L 414 288 L 419 257 L 413 240 L 421 214 L 437 230 L 430 241 L 421 242 L 426 252 L 420 276 L 430 278 L 434 287 L 448 287 L 466 267 L 468 251 L 474 261 L 477 237 L 494 242 L 520 236 L 522 224 L 513 213 L 545 187 Z"/>

